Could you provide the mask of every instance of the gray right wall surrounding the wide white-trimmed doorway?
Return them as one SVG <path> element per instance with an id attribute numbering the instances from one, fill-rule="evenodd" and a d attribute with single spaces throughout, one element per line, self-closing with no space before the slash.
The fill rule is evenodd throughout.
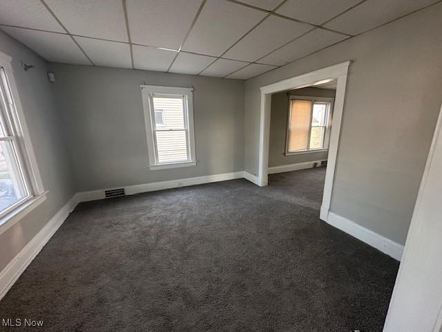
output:
<path id="1" fill-rule="evenodd" d="M 331 210 L 405 243 L 442 102 L 441 31 L 438 3 L 247 81 L 245 170 L 258 171 L 260 86 L 352 60 Z"/>

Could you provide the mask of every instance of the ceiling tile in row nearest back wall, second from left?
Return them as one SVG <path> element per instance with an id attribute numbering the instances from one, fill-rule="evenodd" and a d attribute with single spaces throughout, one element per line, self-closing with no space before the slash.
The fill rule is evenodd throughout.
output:
<path id="1" fill-rule="evenodd" d="M 85 37 L 74 38 L 95 65 L 132 68 L 129 44 Z"/>

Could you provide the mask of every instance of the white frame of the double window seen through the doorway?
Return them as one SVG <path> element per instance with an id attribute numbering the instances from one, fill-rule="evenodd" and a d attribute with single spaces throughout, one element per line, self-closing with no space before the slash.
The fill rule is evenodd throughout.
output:
<path id="1" fill-rule="evenodd" d="M 291 101 L 292 100 L 310 100 L 311 111 L 310 111 L 310 127 L 309 127 L 309 145 L 310 145 L 310 132 L 311 132 L 311 116 L 313 115 L 313 106 L 315 102 L 327 102 L 330 104 L 329 109 L 327 110 L 326 120 L 325 120 L 325 133 L 324 133 L 324 147 L 320 149 L 307 149 L 299 150 L 299 151 L 289 151 L 289 130 L 290 130 L 290 118 L 291 118 Z M 326 97 L 311 97 L 306 95 L 290 95 L 289 98 L 289 112 L 287 116 L 287 130 L 285 134 L 285 156 L 294 156 L 297 154 L 313 154 L 315 152 L 325 152 L 329 149 L 329 140 L 330 140 L 330 132 L 332 128 L 332 112 L 334 107 L 334 98 L 326 98 Z"/>

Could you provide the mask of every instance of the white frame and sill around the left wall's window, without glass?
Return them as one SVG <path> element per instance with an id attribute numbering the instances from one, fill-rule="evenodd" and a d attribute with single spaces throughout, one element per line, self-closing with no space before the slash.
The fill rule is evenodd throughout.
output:
<path id="1" fill-rule="evenodd" d="M 15 225 L 23 216 L 26 216 L 26 214 L 43 203 L 46 200 L 47 194 L 41 181 L 37 159 L 35 158 L 23 108 L 21 107 L 11 62 L 12 57 L 0 51 L 0 68 L 3 67 L 5 71 L 8 80 L 6 87 L 9 88 L 10 97 L 12 98 L 12 100 L 9 101 L 8 111 L 11 113 L 12 121 L 10 125 L 14 131 L 14 135 L 13 138 L 10 139 L 15 140 L 19 163 L 21 164 L 21 170 L 23 171 L 23 177 L 25 178 L 29 195 L 26 199 L 22 199 L 5 210 L 6 213 L 0 214 L 0 234 L 8 230 L 12 225 Z"/>

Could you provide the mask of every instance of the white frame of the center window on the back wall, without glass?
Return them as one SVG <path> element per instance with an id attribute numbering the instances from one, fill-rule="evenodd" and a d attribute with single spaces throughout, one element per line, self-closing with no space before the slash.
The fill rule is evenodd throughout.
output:
<path id="1" fill-rule="evenodd" d="M 175 86 L 141 85 L 144 121 L 146 122 L 149 169 L 169 169 L 195 166 L 195 127 L 193 124 L 193 88 Z M 187 139 L 187 160 L 177 163 L 158 163 L 155 139 L 155 109 L 152 98 L 154 95 L 182 96 L 184 98 L 184 122 Z"/>

